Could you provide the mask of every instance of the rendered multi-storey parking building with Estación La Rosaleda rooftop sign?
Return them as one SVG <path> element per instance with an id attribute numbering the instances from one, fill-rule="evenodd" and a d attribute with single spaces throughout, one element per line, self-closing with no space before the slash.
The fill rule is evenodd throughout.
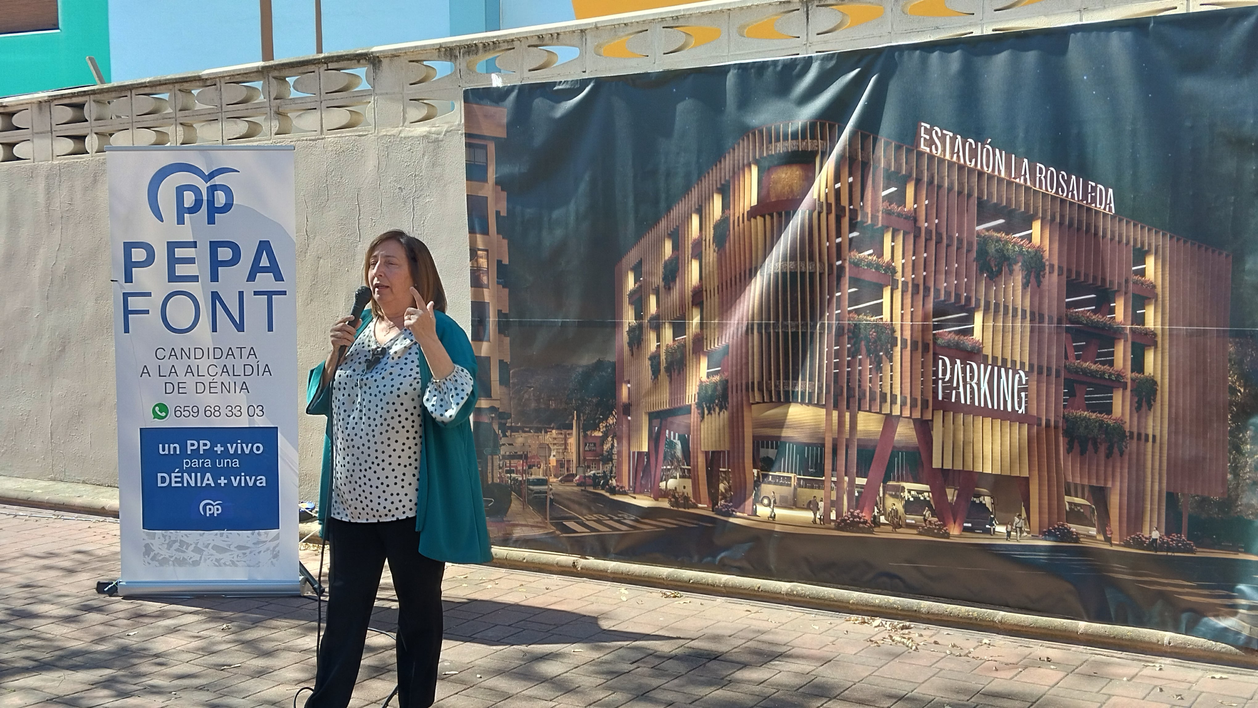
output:
<path id="1" fill-rule="evenodd" d="M 742 137 L 616 268 L 619 483 L 833 518 L 915 482 L 954 532 L 976 487 L 1034 532 L 1071 497 L 1118 538 L 1224 494 L 1230 257 L 1006 147 Z"/>

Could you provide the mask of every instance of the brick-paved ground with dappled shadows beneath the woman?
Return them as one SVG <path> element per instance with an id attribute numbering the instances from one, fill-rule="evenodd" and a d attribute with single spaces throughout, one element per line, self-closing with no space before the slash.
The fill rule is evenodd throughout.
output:
<path id="1" fill-rule="evenodd" d="M 0 507 L 0 708 L 292 705 L 314 675 L 311 600 L 98 596 L 118 573 L 117 532 Z M 452 566 L 438 705 L 1258 705 L 1258 672 L 668 595 Z M 391 630 L 387 585 L 381 596 L 375 626 Z M 391 661 L 390 640 L 369 635 L 352 705 L 384 700 Z"/>

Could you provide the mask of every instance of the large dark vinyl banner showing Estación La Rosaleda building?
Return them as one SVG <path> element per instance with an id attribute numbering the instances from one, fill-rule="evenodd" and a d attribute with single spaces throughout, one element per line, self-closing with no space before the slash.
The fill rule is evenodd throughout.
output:
<path id="1" fill-rule="evenodd" d="M 496 542 L 1258 648 L 1254 47 L 468 91 Z"/>

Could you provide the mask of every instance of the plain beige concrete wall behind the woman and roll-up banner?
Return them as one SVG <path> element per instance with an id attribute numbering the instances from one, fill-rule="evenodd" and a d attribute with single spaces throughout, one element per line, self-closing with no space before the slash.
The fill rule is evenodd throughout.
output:
<path id="1" fill-rule="evenodd" d="M 463 135 L 415 127 L 292 141 L 297 147 L 298 362 L 327 355 L 366 244 L 401 228 L 438 260 L 449 314 L 467 327 L 470 289 Z M 0 475 L 117 484 L 113 304 L 103 158 L 0 170 Z M 304 381 L 304 373 L 302 375 Z M 304 407 L 304 389 L 294 391 Z M 313 498 L 322 418 L 302 415 L 301 494 Z"/>

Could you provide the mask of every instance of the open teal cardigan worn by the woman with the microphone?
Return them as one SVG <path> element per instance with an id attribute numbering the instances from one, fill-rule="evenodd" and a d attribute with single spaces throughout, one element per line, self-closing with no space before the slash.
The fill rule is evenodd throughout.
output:
<path id="1" fill-rule="evenodd" d="M 371 312 L 362 316 L 359 332 L 371 323 Z M 444 312 L 437 312 L 437 336 L 450 361 L 468 370 L 476 380 L 476 355 L 467 333 Z M 428 361 L 419 357 L 423 376 L 420 391 L 428 390 L 433 373 Z M 327 416 L 323 434 L 323 474 L 320 479 L 320 536 L 325 536 L 327 508 L 332 494 L 332 396 L 331 386 L 320 387 L 323 365 L 311 370 L 306 387 L 306 412 Z M 423 394 L 420 394 L 423 400 Z M 473 387 L 454 420 L 440 423 L 428 409 L 419 406 L 424 429 L 419 458 L 419 495 L 415 499 L 415 529 L 419 531 L 419 552 L 448 563 L 487 563 L 489 529 L 484 522 L 484 499 L 477 468 L 476 445 L 472 440 L 472 410 L 477 391 Z"/>

